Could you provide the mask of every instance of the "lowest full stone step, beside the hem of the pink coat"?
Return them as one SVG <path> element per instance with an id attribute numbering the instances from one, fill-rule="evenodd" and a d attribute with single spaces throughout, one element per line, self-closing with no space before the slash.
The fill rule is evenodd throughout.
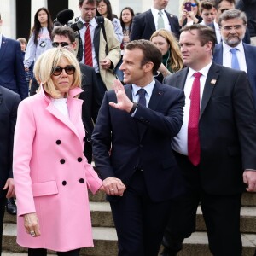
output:
<path id="1" fill-rule="evenodd" d="M 5 224 L 3 229 L 3 251 L 2 256 L 26 255 L 26 248 L 19 247 L 16 240 L 16 225 Z M 113 228 L 93 228 L 95 247 L 83 248 L 81 255 L 86 256 L 116 256 L 117 236 Z M 255 234 L 242 234 L 243 253 L 242 256 L 253 256 L 256 247 Z M 183 250 L 178 256 L 212 256 L 207 245 L 207 233 L 195 232 L 183 242 Z"/>

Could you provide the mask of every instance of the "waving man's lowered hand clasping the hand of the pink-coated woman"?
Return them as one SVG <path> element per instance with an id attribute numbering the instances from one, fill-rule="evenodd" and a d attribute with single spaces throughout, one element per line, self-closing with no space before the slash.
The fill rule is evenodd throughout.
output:
<path id="1" fill-rule="evenodd" d="M 126 189 L 124 183 L 117 177 L 107 177 L 102 182 L 107 195 L 123 196 Z"/>

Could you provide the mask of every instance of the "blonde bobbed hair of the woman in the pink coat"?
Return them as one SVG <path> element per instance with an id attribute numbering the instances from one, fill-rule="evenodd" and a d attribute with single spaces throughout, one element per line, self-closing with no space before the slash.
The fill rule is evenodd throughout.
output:
<path id="1" fill-rule="evenodd" d="M 40 55 L 35 63 L 34 73 L 38 80 L 38 83 L 44 84 L 44 90 L 53 98 L 59 98 L 61 92 L 56 89 L 52 80 L 52 68 L 58 66 L 61 59 L 65 58 L 70 65 L 75 67 L 75 73 L 73 74 L 73 84 L 70 89 L 75 87 L 81 87 L 81 71 L 79 67 L 79 61 L 77 61 L 75 55 L 68 49 L 52 48 Z"/>

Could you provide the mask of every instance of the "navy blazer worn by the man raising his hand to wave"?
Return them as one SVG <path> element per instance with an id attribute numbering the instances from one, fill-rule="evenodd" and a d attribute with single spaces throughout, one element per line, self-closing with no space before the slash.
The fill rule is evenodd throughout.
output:
<path id="1" fill-rule="evenodd" d="M 132 100 L 131 84 L 125 85 L 125 93 Z M 110 107 L 109 102 L 117 102 L 113 90 L 105 93 L 92 134 L 100 177 L 118 177 L 127 185 L 140 167 L 152 201 L 170 200 L 183 193 L 171 147 L 171 138 L 183 124 L 183 90 L 155 81 L 148 108 L 138 105 L 133 117 Z M 108 196 L 108 200 L 117 198 Z"/>

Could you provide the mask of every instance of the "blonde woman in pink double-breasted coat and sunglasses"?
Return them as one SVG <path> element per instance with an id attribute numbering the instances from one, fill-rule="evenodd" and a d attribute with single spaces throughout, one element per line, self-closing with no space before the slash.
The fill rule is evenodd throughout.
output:
<path id="1" fill-rule="evenodd" d="M 20 102 L 15 129 L 17 242 L 32 256 L 76 256 L 93 247 L 87 189 L 102 189 L 83 154 L 79 63 L 67 49 L 49 49 L 34 72 L 41 90 Z"/>

